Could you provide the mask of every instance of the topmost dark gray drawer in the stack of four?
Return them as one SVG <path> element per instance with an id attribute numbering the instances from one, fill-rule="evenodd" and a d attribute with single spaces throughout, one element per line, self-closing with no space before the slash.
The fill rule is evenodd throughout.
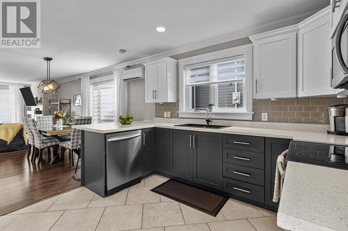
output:
<path id="1" fill-rule="evenodd" d="M 264 153 L 264 137 L 248 135 L 224 135 L 223 147 Z"/>

